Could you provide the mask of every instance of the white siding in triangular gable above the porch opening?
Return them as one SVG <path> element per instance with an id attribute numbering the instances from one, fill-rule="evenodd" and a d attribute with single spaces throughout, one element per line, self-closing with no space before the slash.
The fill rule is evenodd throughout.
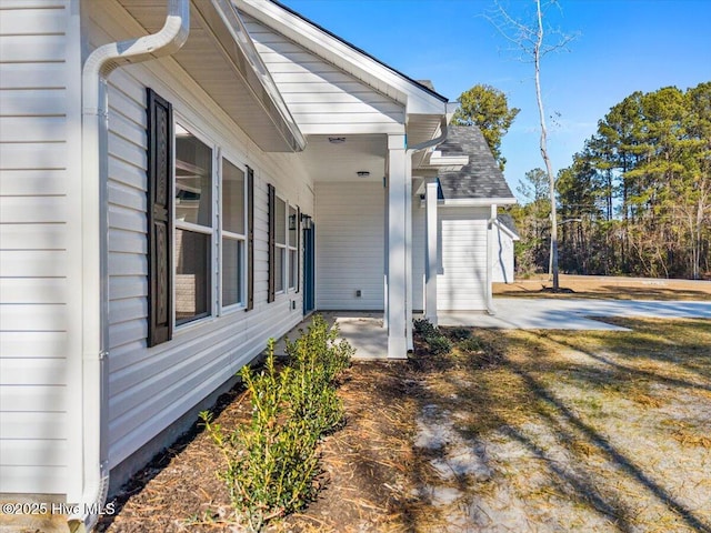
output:
<path id="1" fill-rule="evenodd" d="M 402 131 L 401 104 L 254 19 L 244 22 L 304 134 Z"/>

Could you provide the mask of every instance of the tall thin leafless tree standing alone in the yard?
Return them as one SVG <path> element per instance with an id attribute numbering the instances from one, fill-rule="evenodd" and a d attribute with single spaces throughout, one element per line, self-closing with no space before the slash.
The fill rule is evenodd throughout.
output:
<path id="1" fill-rule="evenodd" d="M 543 23 L 544 12 L 550 7 L 558 6 L 558 2 L 555 0 L 549 0 L 544 3 L 541 3 L 541 0 L 534 0 L 534 21 L 521 22 L 512 18 L 500 4 L 498 4 L 499 19 L 498 21 L 494 21 L 494 24 L 503 34 L 503 37 L 519 49 L 522 58 L 528 59 L 533 63 L 533 72 L 535 79 L 535 101 L 538 104 L 539 123 L 541 127 L 539 147 L 550 183 L 551 270 L 553 273 L 553 291 L 558 291 L 560 289 L 560 282 L 558 275 L 558 220 L 555 212 L 555 174 L 553 173 L 553 167 L 548 154 L 548 128 L 545 124 L 545 109 L 543 105 L 543 97 L 541 91 L 541 60 L 550 52 L 565 49 L 573 37 L 559 33 L 559 39 L 557 39 L 554 43 L 549 43 L 550 40 L 545 39 L 548 36 L 548 30 Z M 552 32 L 551 34 L 554 34 L 554 32 Z"/>

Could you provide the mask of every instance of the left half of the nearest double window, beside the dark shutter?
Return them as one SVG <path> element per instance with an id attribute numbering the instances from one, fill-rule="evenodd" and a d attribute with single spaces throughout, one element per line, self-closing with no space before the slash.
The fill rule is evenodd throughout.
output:
<path id="1" fill-rule="evenodd" d="M 212 314 L 212 149 L 176 123 L 176 325 Z"/>

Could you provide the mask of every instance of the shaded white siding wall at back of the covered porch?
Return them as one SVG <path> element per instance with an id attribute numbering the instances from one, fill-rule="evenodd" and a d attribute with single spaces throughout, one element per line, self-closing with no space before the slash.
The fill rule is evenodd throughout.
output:
<path id="1" fill-rule="evenodd" d="M 382 310 L 382 183 L 319 182 L 316 195 L 317 309 Z"/>

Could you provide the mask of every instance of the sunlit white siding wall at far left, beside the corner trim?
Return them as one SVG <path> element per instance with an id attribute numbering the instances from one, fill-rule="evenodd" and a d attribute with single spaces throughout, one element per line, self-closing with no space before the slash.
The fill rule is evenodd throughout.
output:
<path id="1" fill-rule="evenodd" d="M 79 354 L 71 262 L 79 130 L 69 130 L 80 66 L 70 26 L 68 2 L 0 1 L 2 493 L 67 493 L 76 444 L 68 355 Z"/>

